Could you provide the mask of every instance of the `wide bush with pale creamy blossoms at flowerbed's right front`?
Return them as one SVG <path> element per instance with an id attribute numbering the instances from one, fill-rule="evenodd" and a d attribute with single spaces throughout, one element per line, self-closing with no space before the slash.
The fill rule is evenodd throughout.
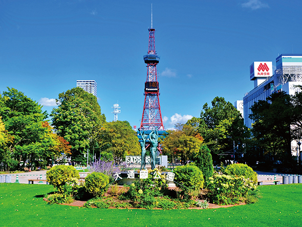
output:
<path id="1" fill-rule="evenodd" d="M 244 201 L 251 190 L 257 189 L 252 180 L 243 176 L 215 174 L 209 177 L 208 196 L 212 203 L 229 205 Z"/>

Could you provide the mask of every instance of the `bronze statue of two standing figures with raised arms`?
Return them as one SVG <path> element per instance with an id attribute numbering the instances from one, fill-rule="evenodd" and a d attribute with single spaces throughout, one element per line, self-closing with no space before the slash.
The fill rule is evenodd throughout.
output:
<path id="1" fill-rule="evenodd" d="M 141 168 L 145 169 L 146 168 L 146 140 L 147 140 L 147 135 L 144 133 L 145 131 L 141 131 L 138 129 L 141 137 L 142 137 L 142 142 L 141 144 L 141 149 L 142 149 L 142 156 L 141 156 Z M 149 141 L 150 141 L 150 163 L 151 163 L 151 169 L 155 169 L 155 160 L 156 160 L 156 153 L 157 153 L 157 146 L 158 146 L 158 132 L 155 129 L 152 129 L 152 131 L 149 134 Z"/>

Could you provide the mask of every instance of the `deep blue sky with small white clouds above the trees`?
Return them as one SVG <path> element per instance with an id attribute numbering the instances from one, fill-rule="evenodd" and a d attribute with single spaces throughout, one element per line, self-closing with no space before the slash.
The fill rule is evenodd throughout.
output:
<path id="1" fill-rule="evenodd" d="M 139 126 L 151 4 L 166 128 L 216 96 L 243 99 L 253 61 L 302 54 L 300 1 L 0 0 L 0 91 L 16 88 L 50 113 L 76 80 L 96 80 L 107 121 L 118 101 L 118 120 Z"/>

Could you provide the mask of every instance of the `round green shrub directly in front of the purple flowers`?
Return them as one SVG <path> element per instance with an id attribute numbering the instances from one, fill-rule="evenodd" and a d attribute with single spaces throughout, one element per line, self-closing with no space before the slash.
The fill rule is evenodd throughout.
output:
<path id="1" fill-rule="evenodd" d="M 92 172 L 85 177 L 85 188 L 93 196 L 102 196 L 109 188 L 109 181 L 109 176 Z"/>

